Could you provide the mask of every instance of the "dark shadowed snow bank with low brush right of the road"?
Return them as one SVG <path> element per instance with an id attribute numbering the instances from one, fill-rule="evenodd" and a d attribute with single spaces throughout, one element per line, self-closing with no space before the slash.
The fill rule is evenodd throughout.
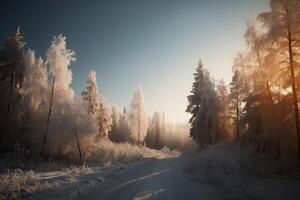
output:
<path id="1" fill-rule="evenodd" d="M 185 174 L 218 189 L 211 199 L 297 200 L 300 197 L 299 169 L 286 169 L 276 160 L 241 149 L 239 145 L 214 145 L 185 156 L 190 158 L 185 163 Z"/>

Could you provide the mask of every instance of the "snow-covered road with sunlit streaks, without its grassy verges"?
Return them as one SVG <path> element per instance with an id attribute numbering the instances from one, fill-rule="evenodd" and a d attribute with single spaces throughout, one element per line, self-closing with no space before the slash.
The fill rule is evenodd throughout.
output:
<path id="1" fill-rule="evenodd" d="M 149 159 L 120 173 L 105 187 L 85 193 L 86 199 L 205 199 L 204 188 L 182 174 L 182 159 Z"/>

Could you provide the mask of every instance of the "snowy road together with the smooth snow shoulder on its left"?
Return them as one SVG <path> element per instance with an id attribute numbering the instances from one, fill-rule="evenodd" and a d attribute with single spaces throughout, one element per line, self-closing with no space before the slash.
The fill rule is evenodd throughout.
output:
<path id="1" fill-rule="evenodd" d="M 207 199 L 210 189 L 189 180 L 182 173 L 183 156 L 149 158 L 125 169 L 79 177 L 75 184 L 34 199 Z M 105 179 L 103 179 L 105 177 Z M 81 180 L 80 180 L 81 179 Z M 93 181 L 94 180 L 94 181 Z M 104 181 L 103 181 L 104 180 Z"/>

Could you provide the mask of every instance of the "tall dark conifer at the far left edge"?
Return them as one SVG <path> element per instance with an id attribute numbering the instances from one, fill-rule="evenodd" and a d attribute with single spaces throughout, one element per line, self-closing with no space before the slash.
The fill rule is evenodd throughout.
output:
<path id="1" fill-rule="evenodd" d="M 19 27 L 0 52 L 0 145 L 4 146 L 0 151 L 12 151 L 15 145 L 20 146 L 24 45 Z"/>

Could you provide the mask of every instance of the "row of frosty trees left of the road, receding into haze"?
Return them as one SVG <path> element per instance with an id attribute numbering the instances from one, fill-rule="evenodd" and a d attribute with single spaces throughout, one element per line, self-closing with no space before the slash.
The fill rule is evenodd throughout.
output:
<path id="1" fill-rule="evenodd" d="M 75 96 L 70 87 L 70 66 L 75 60 L 62 35 L 53 38 L 45 58 L 25 49 L 20 28 L 8 38 L 0 52 L 2 155 L 65 159 L 75 146 L 82 157 L 93 146 L 90 142 L 109 139 L 157 149 L 176 145 L 184 149 L 192 144 L 186 126 L 177 130 L 158 113 L 151 119 L 146 116 L 141 87 L 129 109 L 120 112 L 105 101 L 91 70 L 85 91 Z M 181 141 L 177 134 L 185 139 Z"/>

